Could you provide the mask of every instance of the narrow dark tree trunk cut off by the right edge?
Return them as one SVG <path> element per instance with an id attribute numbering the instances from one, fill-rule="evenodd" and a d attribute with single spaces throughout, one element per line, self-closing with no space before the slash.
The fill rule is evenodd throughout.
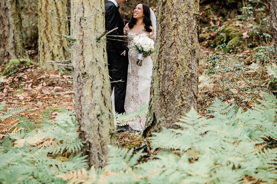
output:
<path id="1" fill-rule="evenodd" d="M 270 16 L 270 26 L 272 30 L 272 36 L 274 39 L 276 64 L 277 64 L 277 1 L 268 0 L 269 4 L 269 16 Z"/>

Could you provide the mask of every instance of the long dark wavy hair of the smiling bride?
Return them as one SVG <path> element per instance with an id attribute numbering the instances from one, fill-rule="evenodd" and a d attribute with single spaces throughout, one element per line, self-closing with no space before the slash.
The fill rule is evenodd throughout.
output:
<path id="1" fill-rule="evenodd" d="M 152 22 L 150 19 L 150 8 L 145 3 L 138 3 L 137 5 L 139 5 L 139 4 L 142 4 L 142 6 L 143 6 L 143 14 L 144 14 L 143 22 L 145 24 L 144 30 L 147 32 L 152 32 L 152 29 L 150 28 L 150 26 L 152 26 Z M 134 18 L 134 10 L 135 10 L 136 6 L 133 9 L 133 16 L 132 16 L 130 22 L 128 23 L 129 29 L 132 29 L 134 27 L 134 25 L 136 24 L 136 19 Z"/>

